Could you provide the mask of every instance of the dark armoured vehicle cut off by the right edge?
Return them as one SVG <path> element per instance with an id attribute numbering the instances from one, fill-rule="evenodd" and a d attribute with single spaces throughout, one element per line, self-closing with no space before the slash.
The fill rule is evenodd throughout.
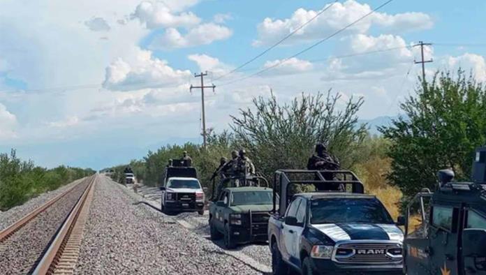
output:
<path id="1" fill-rule="evenodd" d="M 486 147 L 476 150 L 472 175 L 471 182 L 457 182 L 441 170 L 439 188 L 425 189 L 408 205 L 404 273 L 486 274 Z"/>

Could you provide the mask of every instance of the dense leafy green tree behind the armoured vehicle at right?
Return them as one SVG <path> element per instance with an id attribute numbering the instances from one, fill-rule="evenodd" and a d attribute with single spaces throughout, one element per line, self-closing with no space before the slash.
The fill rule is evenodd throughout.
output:
<path id="1" fill-rule="evenodd" d="M 411 196 L 427 187 L 434 189 L 436 172 L 452 169 L 457 179 L 469 179 L 475 147 L 486 141 L 486 94 L 483 84 L 459 70 L 436 73 L 422 82 L 416 96 L 406 98 L 403 117 L 380 128 L 392 141 L 392 184 Z"/>

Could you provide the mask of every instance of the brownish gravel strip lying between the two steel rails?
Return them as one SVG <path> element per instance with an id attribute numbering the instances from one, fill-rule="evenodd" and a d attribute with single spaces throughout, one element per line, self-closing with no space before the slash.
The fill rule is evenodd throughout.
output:
<path id="1" fill-rule="evenodd" d="M 0 270 L 3 274 L 26 274 L 34 267 L 65 218 L 78 202 L 89 179 L 75 186 L 49 208 L 0 243 Z"/>

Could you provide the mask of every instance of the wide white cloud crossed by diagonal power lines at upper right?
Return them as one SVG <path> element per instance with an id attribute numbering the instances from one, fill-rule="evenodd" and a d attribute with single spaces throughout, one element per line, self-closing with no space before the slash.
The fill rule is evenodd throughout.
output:
<path id="1" fill-rule="evenodd" d="M 330 6 L 332 5 L 332 6 Z M 329 7 L 330 6 L 330 7 Z M 312 20 L 304 28 L 300 29 L 291 36 L 285 43 L 299 43 L 308 40 L 321 39 L 335 31 L 346 27 L 358 18 L 371 12 L 371 7 L 365 3 L 358 3 L 348 0 L 344 3 L 327 4 L 328 8 L 322 15 Z M 258 24 L 258 39 L 253 45 L 268 45 L 280 40 L 282 37 L 295 31 L 305 22 L 315 17 L 321 10 L 305 10 L 299 8 L 293 15 L 286 19 L 265 18 Z M 415 29 L 427 29 L 432 27 L 432 18 L 425 13 L 399 13 L 388 15 L 386 13 L 373 13 L 369 17 L 360 21 L 358 24 L 349 27 L 346 31 L 351 33 L 366 33 L 371 26 L 385 27 L 387 29 L 399 29 L 401 31 L 411 31 Z"/>

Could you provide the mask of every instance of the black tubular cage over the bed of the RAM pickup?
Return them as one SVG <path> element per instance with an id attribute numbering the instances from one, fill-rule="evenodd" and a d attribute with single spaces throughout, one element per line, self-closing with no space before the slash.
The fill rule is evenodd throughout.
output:
<path id="1" fill-rule="evenodd" d="M 289 186 L 312 184 L 320 190 L 325 190 L 332 184 L 344 186 L 342 191 L 364 193 L 360 179 L 349 170 L 277 170 L 274 174 L 273 212 L 277 212 L 277 189 L 279 192 L 279 214 L 283 215 L 290 201 Z"/>

